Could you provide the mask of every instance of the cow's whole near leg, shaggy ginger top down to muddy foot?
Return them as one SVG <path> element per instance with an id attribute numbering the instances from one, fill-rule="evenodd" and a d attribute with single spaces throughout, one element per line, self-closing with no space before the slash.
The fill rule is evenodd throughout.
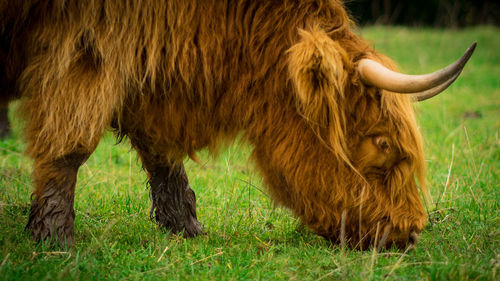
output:
<path id="1" fill-rule="evenodd" d="M 78 168 L 109 126 L 120 92 L 115 85 L 119 79 L 95 63 L 93 52 L 80 50 L 61 68 L 54 58 L 71 51 L 58 48 L 72 45 L 53 44 L 46 49 L 54 54 L 40 54 L 23 72 L 20 109 L 26 119 L 27 153 L 34 159 L 35 190 L 26 228 L 35 240 L 50 237 L 63 246 L 73 242 Z"/>

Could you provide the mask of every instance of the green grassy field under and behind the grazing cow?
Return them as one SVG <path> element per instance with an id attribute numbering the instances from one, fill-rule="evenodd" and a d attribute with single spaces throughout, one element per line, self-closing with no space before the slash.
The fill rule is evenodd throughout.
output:
<path id="1" fill-rule="evenodd" d="M 340 249 L 274 208 L 236 143 L 186 162 L 207 235 L 167 237 L 149 220 L 146 178 L 127 143 L 106 135 L 80 169 L 75 247 L 55 252 L 23 231 L 31 162 L 21 128 L 0 141 L 1 280 L 498 280 L 500 271 L 500 30 L 360 30 L 403 71 L 433 71 L 474 41 L 444 94 L 417 104 L 433 202 L 413 251 Z M 12 120 L 16 117 L 12 115 Z"/>

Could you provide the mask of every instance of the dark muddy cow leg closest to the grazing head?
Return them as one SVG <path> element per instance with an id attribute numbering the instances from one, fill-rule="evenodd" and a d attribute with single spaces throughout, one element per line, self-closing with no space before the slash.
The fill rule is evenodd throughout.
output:
<path id="1" fill-rule="evenodd" d="M 184 237 L 202 234 L 202 227 L 196 217 L 196 197 L 182 163 L 160 161 L 161 157 L 151 154 L 147 149 L 134 147 L 149 176 L 153 201 L 151 219 L 173 234 L 182 233 Z"/>

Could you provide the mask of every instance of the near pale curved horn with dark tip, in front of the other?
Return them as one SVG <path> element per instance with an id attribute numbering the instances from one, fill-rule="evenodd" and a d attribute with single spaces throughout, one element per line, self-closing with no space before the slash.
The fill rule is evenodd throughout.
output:
<path id="1" fill-rule="evenodd" d="M 371 59 L 360 60 L 358 71 L 361 79 L 367 85 L 397 93 L 413 93 L 419 95 L 421 94 L 419 92 L 426 92 L 426 95 L 429 95 L 427 91 L 438 88 L 443 91 L 449 84 L 446 87 L 441 87 L 442 85 L 447 84 L 449 81 L 451 81 L 451 84 L 456 79 L 455 76 L 458 77 L 465 64 L 472 56 L 476 45 L 477 43 L 474 42 L 456 62 L 430 74 L 407 75 L 398 73 Z"/>

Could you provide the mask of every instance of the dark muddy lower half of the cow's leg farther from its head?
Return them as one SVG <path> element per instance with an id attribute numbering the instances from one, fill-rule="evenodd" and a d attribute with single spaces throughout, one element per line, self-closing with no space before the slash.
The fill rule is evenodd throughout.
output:
<path id="1" fill-rule="evenodd" d="M 53 238 L 61 247 L 72 246 L 76 177 L 89 155 L 75 152 L 54 160 L 35 159 L 35 191 L 26 225 L 35 240 Z"/>

